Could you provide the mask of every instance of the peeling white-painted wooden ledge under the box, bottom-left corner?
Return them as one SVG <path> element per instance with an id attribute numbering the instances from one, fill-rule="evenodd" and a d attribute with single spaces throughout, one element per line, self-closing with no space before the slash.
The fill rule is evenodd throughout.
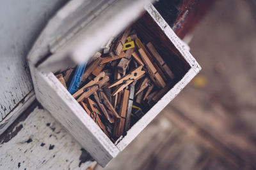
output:
<path id="1" fill-rule="evenodd" d="M 86 169 L 93 162 L 37 102 L 0 136 L 0 152 L 0 169 Z"/>

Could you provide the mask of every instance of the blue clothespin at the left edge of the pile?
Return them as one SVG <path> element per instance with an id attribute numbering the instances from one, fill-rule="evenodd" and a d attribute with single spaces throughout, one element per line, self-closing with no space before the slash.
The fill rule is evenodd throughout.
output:
<path id="1" fill-rule="evenodd" d="M 87 64 L 87 62 L 85 64 L 81 64 L 76 67 L 76 72 L 75 72 L 75 74 L 72 78 L 72 81 L 68 87 L 68 92 L 70 92 L 70 94 L 74 94 L 77 91 L 77 89 L 79 88 L 79 85 L 81 83 L 81 77 L 84 74 L 86 64 Z"/>

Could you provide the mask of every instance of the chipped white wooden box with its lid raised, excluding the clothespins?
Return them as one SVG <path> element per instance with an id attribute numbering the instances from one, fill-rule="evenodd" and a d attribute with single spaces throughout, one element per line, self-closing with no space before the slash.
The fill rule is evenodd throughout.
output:
<path id="1" fill-rule="evenodd" d="M 90 59 L 104 42 L 137 18 L 136 27 L 152 34 L 143 39 L 153 41 L 157 48 L 163 49 L 162 53 L 170 54 L 164 60 L 177 76 L 177 82 L 125 136 L 113 143 L 52 71 L 65 70 Z M 103 167 L 122 152 L 201 69 L 156 8 L 142 0 L 70 1 L 49 21 L 29 53 L 28 61 L 38 101 Z"/>

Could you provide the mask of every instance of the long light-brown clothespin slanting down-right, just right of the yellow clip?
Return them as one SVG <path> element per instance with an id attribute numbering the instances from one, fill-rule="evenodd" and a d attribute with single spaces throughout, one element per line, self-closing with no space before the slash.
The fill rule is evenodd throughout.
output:
<path id="1" fill-rule="evenodd" d="M 145 53 L 145 51 L 142 48 L 140 48 L 139 53 L 141 55 L 141 59 L 147 66 L 148 74 L 150 75 L 151 80 L 154 81 L 156 85 L 160 85 L 162 88 L 164 88 L 166 86 L 166 83 L 164 82 L 160 74 L 157 72 L 156 67 L 154 67 L 150 59 L 148 59 L 148 56 Z"/>

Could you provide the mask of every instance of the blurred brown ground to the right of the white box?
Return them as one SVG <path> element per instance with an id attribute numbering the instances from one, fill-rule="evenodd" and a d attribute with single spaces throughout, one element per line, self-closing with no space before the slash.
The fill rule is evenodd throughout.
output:
<path id="1" fill-rule="evenodd" d="M 215 1 L 187 36 L 202 71 L 104 169 L 256 169 L 255 7 Z"/>

